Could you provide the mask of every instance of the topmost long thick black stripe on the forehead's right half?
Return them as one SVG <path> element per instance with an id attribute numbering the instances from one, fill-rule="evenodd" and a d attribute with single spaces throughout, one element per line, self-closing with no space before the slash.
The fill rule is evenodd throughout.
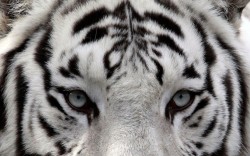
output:
<path id="1" fill-rule="evenodd" d="M 146 12 L 145 17 L 147 19 L 150 19 L 150 20 L 156 22 L 164 29 L 167 29 L 167 30 L 173 32 L 178 37 L 184 38 L 184 35 L 183 35 L 183 32 L 182 32 L 180 26 L 178 24 L 176 24 L 173 20 L 168 18 L 167 16 L 164 16 L 164 15 L 158 14 L 158 13 Z"/>

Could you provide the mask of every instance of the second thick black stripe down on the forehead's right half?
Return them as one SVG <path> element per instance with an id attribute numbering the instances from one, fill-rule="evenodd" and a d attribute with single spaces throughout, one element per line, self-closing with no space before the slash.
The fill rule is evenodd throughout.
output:
<path id="1" fill-rule="evenodd" d="M 167 35 L 159 35 L 158 42 L 153 42 L 153 44 L 156 46 L 162 46 L 164 44 L 180 56 L 185 56 L 183 50 L 175 43 L 172 38 Z"/>

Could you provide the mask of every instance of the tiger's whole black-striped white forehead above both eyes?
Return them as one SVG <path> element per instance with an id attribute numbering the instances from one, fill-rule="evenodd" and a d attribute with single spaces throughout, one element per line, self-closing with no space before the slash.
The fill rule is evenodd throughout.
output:
<path id="1" fill-rule="evenodd" d="M 71 54 L 65 55 L 65 52 L 61 54 L 65 55 L 66 61 L 62 61 L 64 67 L 59 68 L 62 76 L 81 75 L 100 82 L 110 79 L 109 83 L 112 84 L 122 78 L 140 82 L 139 79 L 146 79 L 147 75 L 147 81 L 156 79 L 155 82 L 160 85 L 165 84 L 166 80 L 167 83 L 177 81 L 182 76 L 200 78 L 200 71 L 194 67 L 198 65 L 197 60 L 200 58 L 192 59 L 195 58 L 194 53 L 188 57 L 191 61 L 184 69 L 187 64 L 187 52 L 198 52 L 200 49 L 195 48 L 199 45 L 196 44 L 196 36 L 192 37 L 195 45 L 189 46 L 190 43 L 185 43 L 191 41 L 186 39 L 187 29 L 190 31 L 191 24 L 186 23 L 185 27 L 181 27 L 183 23 L 180 23 L 178 18 L 190 21 L 190 17 L 185 17 L 175 3 L 117 1 L 110 7 L 108 2 L 94 2 L 84 4 L 87 11 L 84 12 L 82 8 L 79 10 L 82 16 L 71 20 L 73 27 L 70 27 L 70 36 L 77 40 L 78 45 L 70 44 L 72 42 L 68 42 L 67 37 L 60 37 L 56 41 L 55 45 L 70 44 L 71 49 L 77 49 L 73 57 Z M 96 9 L 88 10 L 88 5 Z M 77 11 L 67 10 L 63 13 L 65 18 L 61 20 L 69 21 L 70 14 L 74 15 Z M 55 27 L 57 28 L 56 25 Z M 189 47 L 192 49 L 188 49 Z M 202 54 L 198 55 L 200 57 Z M 68 67 L 65 67 L 65 64 L 68 64 Z"/>

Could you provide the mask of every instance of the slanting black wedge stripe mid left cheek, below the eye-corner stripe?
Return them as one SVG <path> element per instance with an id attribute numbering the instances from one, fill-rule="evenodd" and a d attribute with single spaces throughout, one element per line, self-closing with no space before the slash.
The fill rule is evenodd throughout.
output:
<path id="1" fill-rule="evenodd" d="M 58 135 L 59 133 L 46 121 L 46 119 L 39 113 L 38 115 L 39 122 L 42 126 L 42 129 L 45 130 L 48 137 L 53 137 Z"/>

